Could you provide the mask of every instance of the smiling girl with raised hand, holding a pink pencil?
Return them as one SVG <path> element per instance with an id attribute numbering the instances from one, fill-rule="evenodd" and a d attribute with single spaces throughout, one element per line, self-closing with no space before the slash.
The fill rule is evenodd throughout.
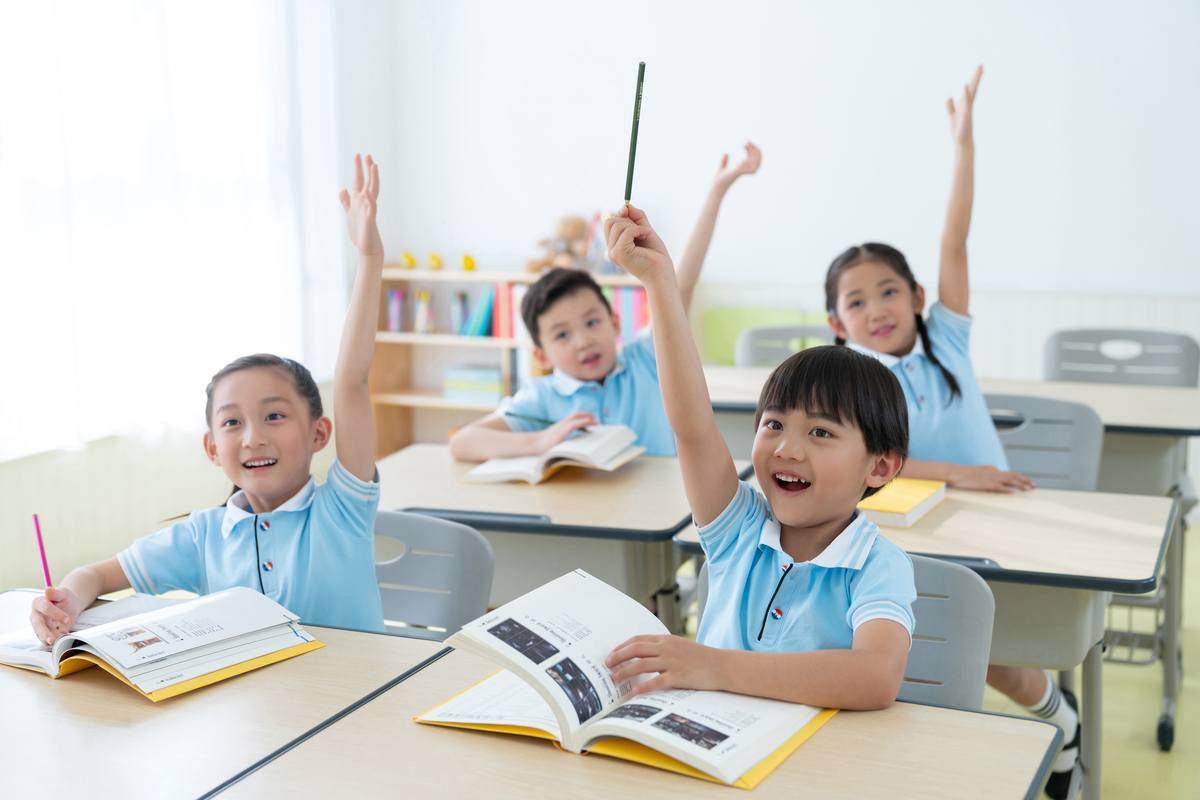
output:
<path id="1" fill-rule="evenodd" d="M 379 169 L 354 157 L 354 191 L 342 191 L 359 270 L 334 377 L 337 458 L 324 483 L 312 455 L 332 435 L 310 372 L 290 359 L 238 359 L 209 383 L 204 452 L 238 491 L 224 506 L 133 542 L 116 557 L 72 570 L 34 601 L 30 622 L 52 644 L 97 596 L 121 589 L 204 595 L 247 587 L 305 622 L 383 631 L 374 576 L 379 476 L 367 373 L 383 270 L 376 227 Z"/>

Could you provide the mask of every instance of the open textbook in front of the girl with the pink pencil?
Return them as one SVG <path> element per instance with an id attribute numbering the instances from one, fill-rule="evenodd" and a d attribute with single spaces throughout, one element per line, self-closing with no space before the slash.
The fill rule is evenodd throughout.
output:
<path id="1" fill-rule="evenodd" d="M 184 601 L 125 597 L 83 612 L 50 646 L 29 625 L 40 594 L 0 595 L 2 616 L 18 616 L 10 607 L 24 603 L 25 620 L 0 634 L 0 663 L 50 678 L 96 664 L 155 702 L 324 646 L 299 616 L 242 587 Z"/>

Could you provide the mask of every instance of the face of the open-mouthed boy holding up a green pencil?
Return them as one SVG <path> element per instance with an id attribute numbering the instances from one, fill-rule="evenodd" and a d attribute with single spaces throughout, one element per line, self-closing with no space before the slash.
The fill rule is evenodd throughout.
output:
<path id="1" fill-rule="evenodd" d="M 772 512 L 791 528 L 848 522 L 866 487 L 900 469 L 899 457 L 866 452 L 856 426 L 800 409 L 763 411 L 751 461 Z"/>

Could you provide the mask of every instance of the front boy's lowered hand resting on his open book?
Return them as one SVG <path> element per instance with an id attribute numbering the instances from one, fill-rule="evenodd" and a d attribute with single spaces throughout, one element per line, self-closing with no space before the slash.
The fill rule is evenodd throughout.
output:
<path id="1" fill-rule="evenodd" d="M 635 686 L 635 694 L 660 688 L 719 690 L 720 654 L 682 636 L 635 636 L 618 644 L 604 663 L 613 670 L 612 679 L 618 684 L 635 675 L 658 673 Z"/>

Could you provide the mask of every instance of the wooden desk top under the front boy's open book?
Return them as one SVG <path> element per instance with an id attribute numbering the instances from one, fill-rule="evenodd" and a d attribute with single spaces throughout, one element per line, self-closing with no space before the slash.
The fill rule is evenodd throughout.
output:
<path id="1" fill-rule="evenodd" d="M 581 758 L 542 739 L 455 730 L 413 717 L 496 672 L 455 651 L 235 783 L 226 798 L 733 798 L 724 784 Z M 1025 798 L 1057 728 L 1034 720 L 898 703 L 842 711 L 755 790 L 796 798 Z M 731 792 L 733 794 L 731 794 Z"/>

